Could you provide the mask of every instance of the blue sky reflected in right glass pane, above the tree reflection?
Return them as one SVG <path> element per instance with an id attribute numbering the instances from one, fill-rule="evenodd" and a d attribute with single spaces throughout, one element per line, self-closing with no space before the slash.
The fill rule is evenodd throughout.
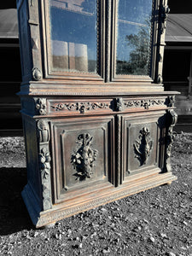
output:
<path id="1" fill-rule="evenodd" d="M 117 61 L 129 62 L 131 52 L 136 49 L 128 45 L 127 36 L 139 35 L 144 28 L 150 37 L 150 21 L 153 0 L 119 0 L 118 8 L 118 36 L 117 36 Z M 139 38 L 142 40 L 142 38 Z M 119 65 L 117 63 L 117 65 Z M 128 73 L 127 73 L 128 74 Z"/>

